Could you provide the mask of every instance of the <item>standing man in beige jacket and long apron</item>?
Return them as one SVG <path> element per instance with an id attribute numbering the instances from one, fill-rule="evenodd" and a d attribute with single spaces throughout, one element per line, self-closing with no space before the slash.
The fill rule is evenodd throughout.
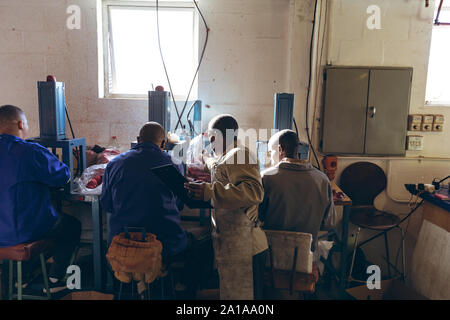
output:
<path id="1" fill-rule="evenodd" d="M 260 228 L 258 205 L 264 197 L 254 155 L 237 143 L 237 121 L 220 115 L 209 123 L 215 157 L 206 159 L 211 183 L 189 183 L 196 199 L 211 200 L 213 244 L 223 300 L 263 298 L 267 238 Z"/>

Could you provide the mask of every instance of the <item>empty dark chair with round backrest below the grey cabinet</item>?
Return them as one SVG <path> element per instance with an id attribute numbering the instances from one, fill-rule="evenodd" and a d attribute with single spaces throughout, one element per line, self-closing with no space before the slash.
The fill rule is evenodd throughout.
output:
<path id="1" fill-rule="evenodd" d="M 350 214 L 350 222 L 358 226 L 355 244 L 353 248 L 352 264 L 350 267 L 349 281 L 352 279 L 353 266 L 355 262 L 355 253 L 357 248 L 364 244 L 384 236 L 386 262 L 389 278 L 391 278 L 391 266 L 400 275 L 402 280 L 405 277 L 405 243 L 403 230 L 399 226 L 401 219 L 385 211 L 380 211 L 374 206 L 375 198 L 386 188 L 387 179 L 383 170 L 371 162 L 357 162 L 347 168 L 341 174 L 340 187 L 353 202 Z M 397 228 L 401 232 L 402 239 L 402 272 L 399 272 L 396 266 L 391 264 L 389 257 L 389 244 L 387 233 Z M 358 244 L 359 233 L 361 229 L 380 231 L 378 234 Z"/>

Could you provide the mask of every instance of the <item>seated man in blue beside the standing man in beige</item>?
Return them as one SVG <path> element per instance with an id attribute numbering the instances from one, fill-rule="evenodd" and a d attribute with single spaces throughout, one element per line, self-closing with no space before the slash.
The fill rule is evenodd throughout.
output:
<path id="1" fill-rule="evenodd" d="M 163 151 L 164 129 L 156 122 L 140 130 L 138 144 L 114 158 L 103 176 L 100 203 L 111 214 L 108 244 L 125 227 L 145 227 L 163 245 L 163 261 L 186 249 L 187 237 L 180 226 L 183 203 L 151 172 L 173 164 Z M 183 173 L 182 165 L 176 165 Z"/>

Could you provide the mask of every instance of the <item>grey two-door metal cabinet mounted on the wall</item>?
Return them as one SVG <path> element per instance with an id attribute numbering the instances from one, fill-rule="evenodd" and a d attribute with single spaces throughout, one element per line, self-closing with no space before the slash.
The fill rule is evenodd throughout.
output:
<path id="1" fill-rule="evenodd" d="M 404 155 L 412 68 L 327 67 L 321 150 Z"/>

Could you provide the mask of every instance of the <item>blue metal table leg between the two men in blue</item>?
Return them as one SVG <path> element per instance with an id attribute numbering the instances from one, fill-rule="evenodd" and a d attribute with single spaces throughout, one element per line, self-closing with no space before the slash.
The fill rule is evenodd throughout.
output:
<path id="1" fill-rule="evenodd" d="M 92 197 L 92 229 L 93 229 L 93 258 L 94 258 L 94 288 L 103 289 L 103 223 L 102 211 L 97 196 Z"/>

